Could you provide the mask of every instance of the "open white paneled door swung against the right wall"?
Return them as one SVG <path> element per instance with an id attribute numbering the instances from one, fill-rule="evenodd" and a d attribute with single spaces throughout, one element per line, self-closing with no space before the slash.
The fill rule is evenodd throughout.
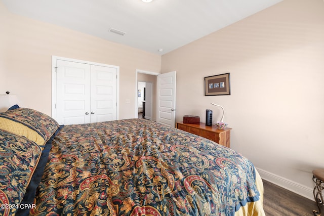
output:
<path id="1" fill-rule="evenodd" d="M 176 71 L 157 76 L 156 121 L 173 127 L 176 124 Z"/>

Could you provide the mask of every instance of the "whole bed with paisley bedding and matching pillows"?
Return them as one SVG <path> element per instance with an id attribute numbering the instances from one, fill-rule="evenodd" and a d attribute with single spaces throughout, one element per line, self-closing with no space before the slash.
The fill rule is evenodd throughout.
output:
<path id="1" fill-rule="evenodd" d="M 254 165 L 146 119 L 59 125 L 0 113 L 0 215 L 265 215 Z"/>

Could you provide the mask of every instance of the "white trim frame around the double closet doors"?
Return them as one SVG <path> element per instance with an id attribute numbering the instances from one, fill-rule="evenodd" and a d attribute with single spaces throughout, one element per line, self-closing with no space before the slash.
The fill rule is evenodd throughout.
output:
<path id="1" fill-rule="evenodd" d="M 116 118 L 119 119 L 119 66 L 78 60 L 78 59 L 65 58 L 65 57 L 60 57 L 60 56 L 52 56 L 52 107 L 51 107 L 51 109 L 52 109 L 51 117 L 52 118 L 56 119 L 56 61 L 57 60 L 116 68 L 117 69 Z"/>

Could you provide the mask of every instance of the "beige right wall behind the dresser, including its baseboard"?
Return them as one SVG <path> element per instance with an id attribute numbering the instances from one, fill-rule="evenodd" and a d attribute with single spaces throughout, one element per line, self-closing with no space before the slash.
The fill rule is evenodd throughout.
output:
<path id="1" fill-rule="evenodd" d="M 212 109 L 231 148 L 262 176 L 312 198 L 323 167 L 324 3 L 284 0 L 162 57 L 177 71 L 177 120 Z M 204 96 L 204 77 L 230 72 L 230 96 Z"/>

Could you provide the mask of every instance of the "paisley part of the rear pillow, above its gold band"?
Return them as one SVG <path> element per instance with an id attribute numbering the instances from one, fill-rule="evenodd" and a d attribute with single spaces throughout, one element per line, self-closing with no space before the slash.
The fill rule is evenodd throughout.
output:
<path id="1" fill-rule="evenodd" d="M 0 113 L 0 118 L 7 118 L 29 127 L 44 139 L 43 145 L 52 137 L 60 126 L 59 123 L 50 116 L 29 108 L 16 108 L 2 112 Z M 3 120 L 0 122 L 3 122 Z M 10 123 L 10 125 L 13 124 L 14 123 Z"/>

